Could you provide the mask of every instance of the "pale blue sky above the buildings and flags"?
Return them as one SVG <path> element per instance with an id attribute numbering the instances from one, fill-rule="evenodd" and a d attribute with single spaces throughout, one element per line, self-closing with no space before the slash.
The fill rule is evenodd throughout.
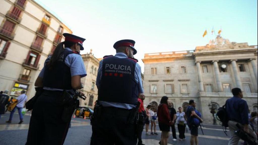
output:
<path id="1" fill-rule="evenodd" d="M 144 53 L 194 50 L 222 28 L 231 42 L 257 45 L 257 0 L 36 0 L 54 11 L 74 35 L 86 38 L 86 52 L 114 55 L 113 44 L 133 39 L 143 71 Z M 205 29 L 208 35 L 202 37 Z"/>

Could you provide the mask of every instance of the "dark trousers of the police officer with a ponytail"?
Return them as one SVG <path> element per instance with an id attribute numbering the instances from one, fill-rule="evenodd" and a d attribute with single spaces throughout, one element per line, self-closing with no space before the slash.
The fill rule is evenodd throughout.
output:
<path id="1" fill-rule="evenodd" d="M 32 110 L 26 145 L 62 145 L 69 122 L 62 121 L 61 91 L 44 91 Z"/>

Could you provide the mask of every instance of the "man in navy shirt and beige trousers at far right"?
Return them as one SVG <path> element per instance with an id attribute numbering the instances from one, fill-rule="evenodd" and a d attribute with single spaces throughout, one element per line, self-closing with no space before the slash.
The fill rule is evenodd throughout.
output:
<path id="1" fill-rule="evenodd" d="M 249 133 L 257 143 L 257 136 L 253 132 L 251 125 L 249 125 L 248 119 L 248 105 L 245 100 L 243 100 L 243 93 L 240 88 L 232 89 L 233 97 L 228 99 L 225 104 L 225 109 L 228 116 L 228 126 L 230 131 L 229 145 L 238 144 L 240 138 L 235 134 L 238 130 L 237 124 L 243 128 L 243 130 Z"/>

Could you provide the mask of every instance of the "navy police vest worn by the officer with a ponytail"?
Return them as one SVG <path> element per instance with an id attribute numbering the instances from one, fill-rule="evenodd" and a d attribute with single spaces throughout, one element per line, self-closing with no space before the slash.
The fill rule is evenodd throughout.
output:
<path id="1" fill-rule="evenodd" d="M 57 88 L 62 90 L 71 90 L 71 71 L 65 64 L 67 55 L 76 53 L 69 50 L 64 50 L 59 55 L 59 58 L 55 65 L 49 69 L 48 65 L 45 65 L 43 86 Z M 51 57 L 48 57 L 46 63 L 50 61 Z"/>

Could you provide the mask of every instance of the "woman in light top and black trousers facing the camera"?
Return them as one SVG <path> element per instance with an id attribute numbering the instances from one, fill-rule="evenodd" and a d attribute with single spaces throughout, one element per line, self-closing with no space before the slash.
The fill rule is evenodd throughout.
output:
<path id="1" fill-rule="evenodd" d="M 178 107 L 178 112 L 176 113 L 176 122 L 178 124 L 179 140 L 186 139 L 184 132 L 186 131 L 186 114 L 182 111 L 182 107 Z"/>

